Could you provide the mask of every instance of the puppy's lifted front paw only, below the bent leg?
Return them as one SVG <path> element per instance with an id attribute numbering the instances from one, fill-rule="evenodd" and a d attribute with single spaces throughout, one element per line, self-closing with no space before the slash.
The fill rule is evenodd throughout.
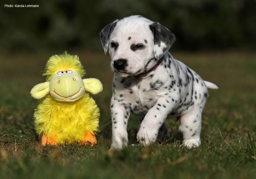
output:
<path id="1" fill-rule="evenodd" d="M 141 127 L 137 133 L 137 140 L 140 144 L 148 146 L 156 142 L 158 131 L 150 131 Z"/>

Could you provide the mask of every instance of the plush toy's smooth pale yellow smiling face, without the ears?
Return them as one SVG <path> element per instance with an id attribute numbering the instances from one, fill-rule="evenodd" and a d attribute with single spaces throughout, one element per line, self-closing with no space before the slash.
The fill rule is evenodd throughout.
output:
<path id="1" fill-rule="evenodd" d="M 60 70 L 52 75 L 50 94 L 58 101 L 76 101 L 85 92 L 84 83 L 74 69 Z"/>

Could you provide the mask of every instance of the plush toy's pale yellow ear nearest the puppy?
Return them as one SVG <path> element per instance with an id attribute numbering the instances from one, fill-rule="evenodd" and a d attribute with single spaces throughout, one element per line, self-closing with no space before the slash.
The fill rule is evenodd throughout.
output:
<path id="1" fill-rule="evenodd" d="M 101 92 L 103 89 L 100 80 L 96 78 L 83 79 L 83 82 L 84 82 L 84 87 L 86 88 L 86 91 L 92 94 L 97 94 Z"/>

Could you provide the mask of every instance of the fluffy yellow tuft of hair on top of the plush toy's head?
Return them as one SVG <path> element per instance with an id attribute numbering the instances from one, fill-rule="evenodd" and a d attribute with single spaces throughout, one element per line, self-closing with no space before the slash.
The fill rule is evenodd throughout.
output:
<path id="1" fill-rule="evenodd" d="M 77 55 L 69 55 L 64 53 L 63 55 L 53 55 L 46 63 L 45 73 L 42 75 L 47 75 L 46 81 L 50 81 L 52 74 L 59 70 L 67 70 L 69 68 L 75 69 L 75 71 L 83 78 L 86 74 L 81 62 Z"/>

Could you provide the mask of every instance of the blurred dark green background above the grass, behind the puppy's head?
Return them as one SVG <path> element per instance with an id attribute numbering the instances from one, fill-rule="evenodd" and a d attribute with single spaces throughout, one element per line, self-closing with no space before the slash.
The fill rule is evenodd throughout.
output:
<path id="1" fill-rule="evenodd" d="M 0 47 L 12 53 L 100 49 L 100 30 L 130 15 L 145 16 L 173 31 L 175 50 L 256 47 L 255 0 L 3 0 L 0 4 Z"/>

